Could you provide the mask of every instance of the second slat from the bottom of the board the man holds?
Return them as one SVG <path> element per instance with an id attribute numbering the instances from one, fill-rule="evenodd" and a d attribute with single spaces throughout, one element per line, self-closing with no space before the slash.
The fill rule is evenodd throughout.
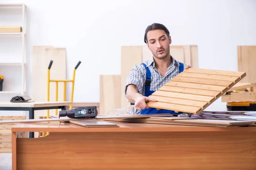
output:
<path id="1" fill-rule="evenodd" d="M 195 100 L 187 100 L 187 99 L 176 99 L 172 97 L 163 97 L 163 96 L 149 96 L 157 100 L 157 102 L 164 102 L 164 103 L 172 103 L 177 105 L 190 105 L 201 108 L 202 106 L 205 107 L 208 102 L 201 102 Z"/>

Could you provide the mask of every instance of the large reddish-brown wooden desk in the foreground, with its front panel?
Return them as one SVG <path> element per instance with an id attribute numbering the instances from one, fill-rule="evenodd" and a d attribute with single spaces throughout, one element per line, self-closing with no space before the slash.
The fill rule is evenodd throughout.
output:
<path id="1" fill-rule="evenodd" d="M 12 170 L 255 170 L 256 127 L 116 122 L 120 127 L 12 127 Z M 17 132 L 51 132 L 17 138 Z"/>

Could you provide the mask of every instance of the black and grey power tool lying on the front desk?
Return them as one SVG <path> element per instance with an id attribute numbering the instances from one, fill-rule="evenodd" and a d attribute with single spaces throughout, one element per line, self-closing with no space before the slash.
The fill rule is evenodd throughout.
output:
<path id="1" fill-rule="evenodd" d="M 67 116 L 69 118 L 94 118 L 97 115 L 98 111 L 96 106 L 72 108 L 68 111 L 59 112 L 59 117 Z"/>

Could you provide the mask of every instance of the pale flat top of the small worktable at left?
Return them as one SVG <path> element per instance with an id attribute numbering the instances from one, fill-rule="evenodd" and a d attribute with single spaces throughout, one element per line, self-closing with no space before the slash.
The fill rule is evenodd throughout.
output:
<path id="1" fill-rule="evenodd" d="M 10 108 L 40 108 L 40 107 L 52 107 L 52 106 L 68 106 L 71 102 L 24 102 L 24 103 L 12 103 L 12 102 L 0 102 L 0 107 Z"/>

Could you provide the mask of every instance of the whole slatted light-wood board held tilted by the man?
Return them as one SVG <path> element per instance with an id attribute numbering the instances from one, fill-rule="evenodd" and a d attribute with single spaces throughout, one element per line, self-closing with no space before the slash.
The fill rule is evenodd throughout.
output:
<path id="1" fill-rule="evenodd" d="M 189 68 L 150 97 L 151 108 L 198 114 L 246 76 L 245 72 Z"/>

